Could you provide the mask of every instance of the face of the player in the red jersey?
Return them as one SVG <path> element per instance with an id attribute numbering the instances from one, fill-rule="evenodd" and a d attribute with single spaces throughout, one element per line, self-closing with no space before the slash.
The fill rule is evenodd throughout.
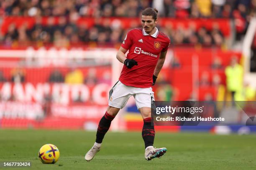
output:
<path id="1" fill-rule="evenodd" d="M 142 28 L 144 28 L 145 32 L 147 32 L 149 35 L 154 34 L 156 23 L 157 23 L 157 19 L 154 20 L 152 16 L 148 16 L 148 15 L 141 16 Z"/>

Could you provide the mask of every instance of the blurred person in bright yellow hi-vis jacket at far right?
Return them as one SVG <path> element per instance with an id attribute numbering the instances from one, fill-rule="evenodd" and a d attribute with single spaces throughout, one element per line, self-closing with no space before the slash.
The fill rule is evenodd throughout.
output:
<path id="1" fill-rule="evenodd" d="M 233 56 L 230 60 L 230 65 L 225 68 L 226 85 L 229 92 L 231 92 L 232 101 L 234 104 L 236 95 L 241 93 L 243 88 L 243 68 L 238 64 L 238 58 Z"/>

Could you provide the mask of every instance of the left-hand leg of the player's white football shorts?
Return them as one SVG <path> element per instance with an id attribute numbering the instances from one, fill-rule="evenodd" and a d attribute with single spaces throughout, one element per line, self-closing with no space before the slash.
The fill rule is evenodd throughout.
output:
<path id="1" fill-rule="evenodd" d="M 132 87 L 124 85 L 118 81 L 116 85 L 110 90 L 110 97 L 108 105 L 118 109 L 122 109 L 128 99 L 132 96 Z"/>

